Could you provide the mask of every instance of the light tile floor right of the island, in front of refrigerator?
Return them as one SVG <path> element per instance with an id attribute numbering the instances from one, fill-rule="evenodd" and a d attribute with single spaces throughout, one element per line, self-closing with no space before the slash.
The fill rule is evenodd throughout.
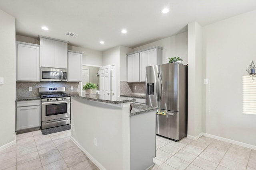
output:
<path id="1" fill-rule="evenodd" d="M 178 142 L 156 136 L 150 170 L 256 170 L 256 150 L 209 137 Z"/>

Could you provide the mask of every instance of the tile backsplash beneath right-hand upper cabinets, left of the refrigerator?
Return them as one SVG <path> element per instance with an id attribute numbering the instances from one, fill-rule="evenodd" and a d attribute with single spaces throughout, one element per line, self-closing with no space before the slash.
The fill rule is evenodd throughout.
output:
<path id="1" fill-rule="evenodd" d="M 135 90 L 136 87 L 136 90 Z M 126 81 L 120 82 L 120 95 L 125 94 L 145 94 L 146 92 L 146 86 L 145 82 L 141 83 L 128 83 Z"/>

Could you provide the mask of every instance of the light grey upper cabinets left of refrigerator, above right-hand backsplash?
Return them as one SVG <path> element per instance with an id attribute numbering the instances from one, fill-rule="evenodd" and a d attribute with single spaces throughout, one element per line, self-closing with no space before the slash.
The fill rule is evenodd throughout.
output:
<path id="1" fill-rule="evenodd" d="M 162 47 L 151 47 L 148 49 L 135 51 L 127 55 L 127 82 L 145 82 L 146 81 L 146 66 L 162 64 Z M 137 56 L 137 60 L 132 63 L 129 57 Z M 131 60 L 131 59 L 130 59 Z M 132 79 L 132 77 L 137 76 Z"/>

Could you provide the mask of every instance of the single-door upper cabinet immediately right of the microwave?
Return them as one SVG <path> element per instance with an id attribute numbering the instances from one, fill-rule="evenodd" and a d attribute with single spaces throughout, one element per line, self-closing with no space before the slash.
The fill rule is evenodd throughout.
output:
<path id="1" fill-rule="evenodd" d="M 82 82 L 83 53 L 68 51 L 68 82 Z"/>

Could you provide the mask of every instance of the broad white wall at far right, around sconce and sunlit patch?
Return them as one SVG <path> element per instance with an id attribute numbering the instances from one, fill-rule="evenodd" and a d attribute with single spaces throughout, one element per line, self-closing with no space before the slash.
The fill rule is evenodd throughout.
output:
<path id="1" fill-rule="evenodd" d="M 256 115 L 242 113 L 242 76 L 256 61 L 256 10 L 203 27 L 203 132 L 256 146 Z M 254 80 L 256 83 L 256 80 Z"/>

